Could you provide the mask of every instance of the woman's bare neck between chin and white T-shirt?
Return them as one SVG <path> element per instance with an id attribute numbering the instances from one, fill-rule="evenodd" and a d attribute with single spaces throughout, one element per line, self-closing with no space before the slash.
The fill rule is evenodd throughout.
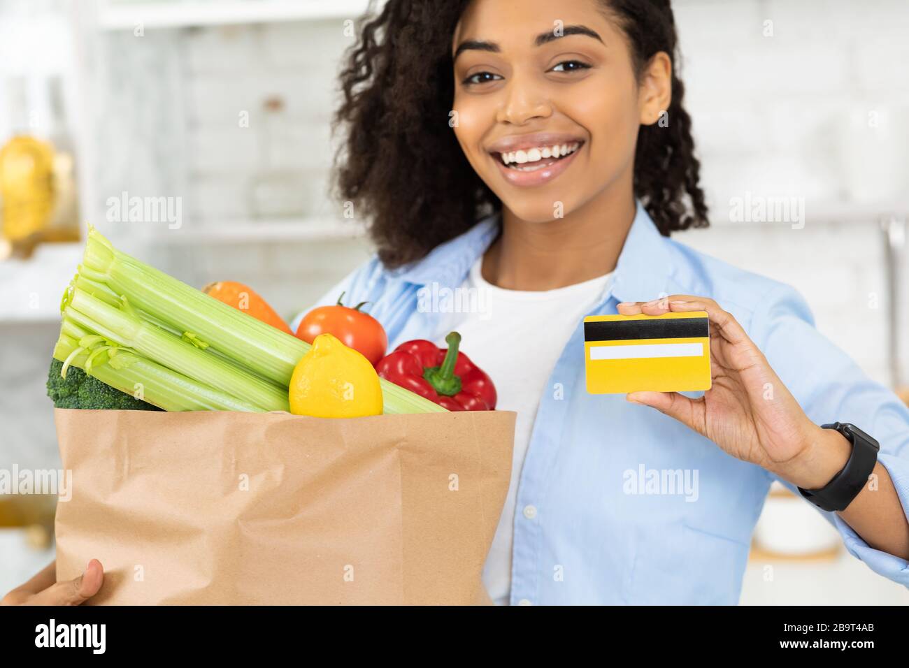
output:
<path id="1" fill-rule="evenodd" d="M 613 271 L 635 214 L 634 194 L 616 190 L 544 223 L 522 220 L 503 207 L 502 234 L 483 258 L 484 279 L 507 290 L 538 291 Z"/>

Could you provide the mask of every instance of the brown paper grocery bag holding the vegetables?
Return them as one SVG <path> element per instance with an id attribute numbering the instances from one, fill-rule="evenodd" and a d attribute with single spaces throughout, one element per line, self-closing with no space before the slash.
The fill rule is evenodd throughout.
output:
<path id="1" fill-rule="evenodd" d="M 489 603 L 514 413 L 55 409 L 57 577 L 92 603 Z"/>

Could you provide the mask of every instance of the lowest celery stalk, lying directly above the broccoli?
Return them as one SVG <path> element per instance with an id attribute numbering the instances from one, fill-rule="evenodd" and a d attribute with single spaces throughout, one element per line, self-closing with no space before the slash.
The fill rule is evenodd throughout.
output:
<path id="1" fill-rule="evenodd" d="M 66 325 L 69 332 L 85 335 L 85 330 L 75 324 Z M 81 336 L 80 336 L 81 338 Z M 61 334 L 54 348 L 54 356 L 65 361 L 79 347 L 78 340 L 70 335 Z M 70 364 L 85 369 L 88 351 L 76 354 Z M 261 413 L 262 409 L 237 399 L 235 396 L 216 390 L 205 384 L 197 383 L 184 374 L 155 364 L 141 355 L 119 353 L 121 368 L 117 369 L 109 362 L 95 364 L 87 374 L 95 376 L 102 383 L 108 384 L 126 394 L 135 394 L 142 389 L 141 398 L 165 411 L 244 411 Z"/>

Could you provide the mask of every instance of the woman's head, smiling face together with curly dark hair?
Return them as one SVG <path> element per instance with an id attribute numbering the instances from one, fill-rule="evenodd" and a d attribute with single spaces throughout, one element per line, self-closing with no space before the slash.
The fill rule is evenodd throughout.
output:
<path id="1" fill-rule="evenodd" d="M 342 73 L 337 194 L 389 267 L 484 214 L 593 221 L 631 188 L 662 234 L 704 226 L 675 48 L 667 2 L 390 2 Z"/>

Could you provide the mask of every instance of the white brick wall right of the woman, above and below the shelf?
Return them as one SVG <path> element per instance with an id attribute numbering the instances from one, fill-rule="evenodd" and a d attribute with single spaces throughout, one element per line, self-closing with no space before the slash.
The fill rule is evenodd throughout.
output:
<path id="1" fill-rule="evenodd" d="M 909 211 L 903 185 L 909 184 L 909 134 L 901 120 L 909 115 L 903 72 L 909 3 L 674 5 L 687 108 L 714 223 L 680 238 L 793 284 L 819 329 L 888 382 L 883 240 L 871 212 L 875 197 Z M 773 22 L 771 37 L 763 36 L 766 20 Z M 877 128 L 867 124 L 872 111 L 883 119 Z M 805 229 L 730 223 L 730 198 L 745 192 L 804 197 Z M 864 219 L 824 218 L 835 213 L 836 202 L 849 201 L 869 203 Z M 869 306 L 872 294 L 879 295 L 877 308 Z M 909 309 L 909 292 L 900 305 Z M 909 373 L 909 360 L 904 366 Z"/>

